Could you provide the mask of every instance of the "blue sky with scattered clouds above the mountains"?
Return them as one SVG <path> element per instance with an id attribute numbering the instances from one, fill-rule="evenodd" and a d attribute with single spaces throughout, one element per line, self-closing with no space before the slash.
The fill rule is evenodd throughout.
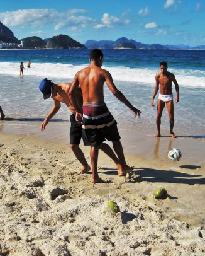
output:
<path id="1" fill-rule="evenodd" d="M 119 37 L 145 44 L 205 45 L 204 0 L 8 0 L 0 21 L 18 38 L 69 35 L 87 40 Z"/>

